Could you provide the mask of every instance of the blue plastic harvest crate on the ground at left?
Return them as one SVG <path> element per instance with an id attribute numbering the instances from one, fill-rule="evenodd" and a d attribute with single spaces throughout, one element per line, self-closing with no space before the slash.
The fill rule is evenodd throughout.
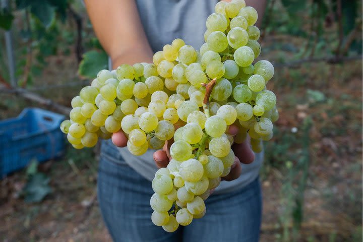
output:
<path id="1" fill-rule="evenodd" d="M 0 122 L 0 178 L 24 168 L 31 159 L 38 162 L 64 152 L 64 134 L 59 125 L 64 115 L 40 108 L 25 108 L 18 117 Z"/>

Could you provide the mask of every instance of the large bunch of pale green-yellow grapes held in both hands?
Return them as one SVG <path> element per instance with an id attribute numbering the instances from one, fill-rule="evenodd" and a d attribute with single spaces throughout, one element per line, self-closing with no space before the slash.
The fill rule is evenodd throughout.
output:
<path id="1" fill-rule="evenodd" d="M 76 149 L 120 129 L 134 155 L 173 140 L 172 159 L 156 172 L 150 200 L 153 223 L 168 232 L 204 216 L 204 200 L 234 162 L 231 145 L 249 135 L 261 152 L 278 119 L 276 96 L 266 90 L 274 68 L 268 61 L 253 65 L 261 52 L 256 10 L 233 0 L 219 2 L 215 11 L 199 51 L 175 39 L 152 64 L 100 71 L 73 98 L 71 120 L 61 125 Z M 234 138 L 226 133 L 230 125 L 239 128 Z"/>

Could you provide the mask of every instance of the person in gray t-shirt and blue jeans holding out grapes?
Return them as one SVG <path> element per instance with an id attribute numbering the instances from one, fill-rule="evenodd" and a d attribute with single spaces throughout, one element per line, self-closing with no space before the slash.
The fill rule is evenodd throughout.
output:
<path id="1" fill-rule="evenodd" d="M 85 0 L 85 5 L 116 69 L 121 64 L 152 63 L 153 53 L 175 38 L 198 50 L 204 43 L 206 19 L 217 2 Z M 258 11 L 260 24 L 266 1 L 246 0 L 246 4 Z M 229 133 L 235 135 L 237 128 L 231 126 Z M 100 210 L 114 241 L 258 241 L 262 216 L 258 174 L 263 152 L 254 154 L 248 141 L 233 145 L 235 162 L 225 181 L 205 201 L 205 216 L 173 233 L 152 223 L 149 203 L 155 171 L 169 161 L 167 145 L 154 154 L 148 150 L 133 156 L 125 147 L 122 131 L 112 135 L 112 142 L 102 144 L 97 187 Z"/>

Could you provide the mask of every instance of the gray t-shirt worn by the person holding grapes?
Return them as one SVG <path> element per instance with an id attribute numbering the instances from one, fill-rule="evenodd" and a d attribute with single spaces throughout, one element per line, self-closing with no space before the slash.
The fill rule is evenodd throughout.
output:
<path id="1" fill-rule="evenodd" d="M 186 44 L 199 50 L 204 43 L 205 22 L 214 12 L 218 1 L 208 0 L 137 0 L 137 7 L 146 36 L 154 52 L 171 44 L 175 38 L 183 39 Z M 154 178 L 157 167 L 153 160 L 154 150 L 142 156 L 132 155 L 127 148 L 116 148 L 110 141 L 103 143 L 108 152 L 118 149 L 118 154 L 109 155 L 124 159 L 133 169 L 148 180 Z M 107 152 L 107 153 L 108 153 Z M 259 174 L 263 153 L 256 154 L 251 164 L 242 164 L 242 174 L 233 181 L 222 181 L 215 193 L 227 193 L 245 187 Z"/>

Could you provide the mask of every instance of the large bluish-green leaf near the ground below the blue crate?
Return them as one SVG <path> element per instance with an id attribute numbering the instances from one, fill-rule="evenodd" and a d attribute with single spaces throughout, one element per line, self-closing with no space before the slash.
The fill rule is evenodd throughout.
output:
<path id="1" fill-rule="evenodd" d="M 35 203 L 42 201 L 46 195 L 51 193 L 49 187 L 49 178 L 43 173 L 36 173 L 32 175 L 28 183 L 23 189 L 26 203 Z"/>

